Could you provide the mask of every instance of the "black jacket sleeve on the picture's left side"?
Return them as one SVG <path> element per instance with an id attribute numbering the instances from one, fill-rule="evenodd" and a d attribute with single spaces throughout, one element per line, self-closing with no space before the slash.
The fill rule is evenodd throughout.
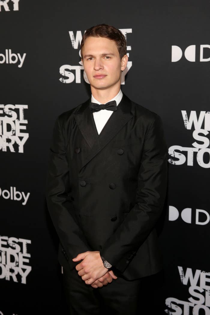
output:
<path id="1" fill-rule="evenodd" d="M 79 253 L 91 250 L 74 217 L 69 181 L 69 167 L 66 158 L 64 132 L 56 119 L 47 176 L 46 199 L 54 227 L 60 238 L 70 267 L 76 266 L 72 258 Z"/>

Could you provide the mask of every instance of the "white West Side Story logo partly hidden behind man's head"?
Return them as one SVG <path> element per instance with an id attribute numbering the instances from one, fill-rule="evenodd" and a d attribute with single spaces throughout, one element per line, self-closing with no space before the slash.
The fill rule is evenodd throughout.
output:
<path id="1" fill-rule="evenodd" d="M 120 29 L 122 31 L 123 35 L 125 36 L 127 40 L 127 34 L 132 33 L 132 28 L 123 28 Z M 69 31 L 69 37 L 71 40 L 72 48 L 73 49 L 79 49 L 80 43 L 82 41 L 82 32 L 77 31 L 76 37 L 74 36 L 73 31 Z M 131 50 L 131 46 L 127 46 L 127 50 Z M 79 56 L 81 58 L 81 50 L 78 51 Z M 127 53 L 129 57 L 129 53 Z M 122 78 L 121 78 L 121 84 L 125 84 L 125 75 L 128 73 L 129 69 L 132 66 L 132 61 L 128 61 L 126 69 L 122 72 Z M 73 71 L 73 72 L 72 72 Z M 72 83 L 75 81 L 75 83 L 81 83 L 81 72 L 83 71 L 83 77 L 85 82 L 89 84 L 87 75 L 84 71 L 84 67 L 82 65 L 82 61 L 79 61 L 79 66 L 71 66 L 71 65 L 63 65 L 60 67 L 60 74 L 63 77 L 60 77 L 59 81 L 62 83 Z"/>

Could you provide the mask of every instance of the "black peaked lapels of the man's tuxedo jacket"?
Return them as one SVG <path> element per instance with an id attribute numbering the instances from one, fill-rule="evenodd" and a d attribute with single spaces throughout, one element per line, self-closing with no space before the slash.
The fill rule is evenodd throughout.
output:
<path id="1" fill-rule="evenodd" d="M 111 114 L 104 128 L 98 135 L 93 114 L 89 110 L 89 102 L 90 100 L 82 104 L 80 110 L 74 113 L 78 128 L 88 143 L 88 146 L 91 148 L 90 154 L 84 158 L 81 164 L 81 169 L 92 160 L 133 117 L 131 114 L 131 101 L 123 94 L 116 112 Z"/>

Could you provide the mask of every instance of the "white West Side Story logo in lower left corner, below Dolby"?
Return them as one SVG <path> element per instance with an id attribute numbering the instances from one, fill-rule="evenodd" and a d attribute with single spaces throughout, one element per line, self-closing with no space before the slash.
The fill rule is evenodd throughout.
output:
<path id="1" fill-rule="evenodd" d="M 29 239 L 0 236 L 0 279 L 26 284 L 31 271 L 28 244 L 31 244 Z"/>

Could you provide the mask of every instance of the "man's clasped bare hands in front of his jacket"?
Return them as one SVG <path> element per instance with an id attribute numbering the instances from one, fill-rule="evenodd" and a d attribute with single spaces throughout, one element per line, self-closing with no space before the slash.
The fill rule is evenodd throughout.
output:
<path id="1" fill-rule="evenodd" d="M 82 262 L 76 266 L 78 275 L 81 276 L 86 284 L 91 284 L 93 288 L 101 288 L 103 285 L 111 283 L 112 279 L 117 279 L 114 272 L 112 270 L 109 271 L 109 269 L 104 266 L 99 251 L 80 253 L 72 260 L 82 260 Z"/>

